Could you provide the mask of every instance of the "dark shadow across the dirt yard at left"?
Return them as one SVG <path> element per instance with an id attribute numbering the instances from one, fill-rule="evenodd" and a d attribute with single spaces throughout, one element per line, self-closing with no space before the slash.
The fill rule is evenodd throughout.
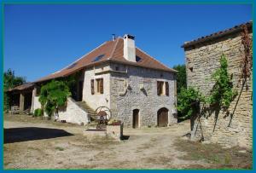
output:
<path id="1" fill-rule="evenodd" d="M 65 130 L 38 128 L 38 127 L 22 127 L 4 129 L 4 143 L 14 143 L 19 141 L 43 140 L 49 138 L 73 136 Z"/>

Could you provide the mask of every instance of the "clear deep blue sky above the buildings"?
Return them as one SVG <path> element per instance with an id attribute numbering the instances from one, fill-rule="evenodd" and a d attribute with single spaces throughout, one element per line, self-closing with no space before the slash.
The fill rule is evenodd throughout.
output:
<path id="1" fill-rule="evenodd" d="M 172 67 L 184 63 L 185 41 L 252 19 L 253 7 L 241 4 L 9 4 L 3 68 L 32 82 L 76 61 L 112 33 L 131 33 L 137 47 Z"/>

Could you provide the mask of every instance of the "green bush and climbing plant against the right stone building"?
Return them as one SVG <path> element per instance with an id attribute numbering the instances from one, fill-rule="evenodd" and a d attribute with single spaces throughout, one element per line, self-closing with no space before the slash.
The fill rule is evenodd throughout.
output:
<path id="1" fill-rule="evenodd" d="M 214 85 L 209 95 L 202 95 L 198 89 L 189 87 L 181 89 L 177 95 L 177 111 L 180 112 L 183 118 L 191 117 L 195 112 L 199 111 L 200 103 L 208 105 L 207 108 L 218 106 L 223 110 L 230 107 L 231 101 L 237 95 L 233 89 L 231 77 L 228 73 L 228 61 L 225 56 L 220 58 L 220 67 L 212 73 Z M 206 107 L 205 107 L 206 108 Z"/>

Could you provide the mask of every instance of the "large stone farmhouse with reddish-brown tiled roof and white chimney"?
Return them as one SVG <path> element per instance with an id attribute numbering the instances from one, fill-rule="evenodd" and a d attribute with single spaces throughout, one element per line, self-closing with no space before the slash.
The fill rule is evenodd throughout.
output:
<path id="1" fill-rule="evenodd" d="M 79 74 L 59 120 L 88 124 L 97 107 L 108 107 L 125 126 L 177 123 L 176 71 L 135 45 L 135 37 L 113 37 L 58 72 L 9 90 L 20 111 L 40 108 L 40 87 L 52 79 Z"/>

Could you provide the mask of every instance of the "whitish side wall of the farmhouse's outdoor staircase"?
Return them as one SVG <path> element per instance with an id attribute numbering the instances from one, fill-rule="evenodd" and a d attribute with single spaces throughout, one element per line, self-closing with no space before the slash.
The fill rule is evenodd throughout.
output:
<path id="1" fill-rule="evenodd" d="M 90 122 L 88 113 L 81 109 L 71 98 L 67 98 L 67 107 L 60 108 L 58 114 L 59 120 L 65 120 L 67 123 L 88 124 Z"/>

